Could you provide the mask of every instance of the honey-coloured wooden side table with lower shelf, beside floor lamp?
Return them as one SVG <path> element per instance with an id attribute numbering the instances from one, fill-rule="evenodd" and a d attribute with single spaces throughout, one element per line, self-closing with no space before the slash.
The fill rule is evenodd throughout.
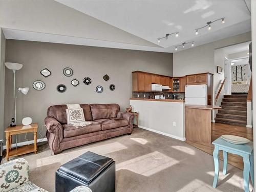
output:
<path id="1" fill-rule="evenodd" d="M 5 130 L 5 136 L 6 136 L 6 160 L 9 160 L 9 157 L 14 157 L 18 155 L 23 155 L 26 153 L 32 153 L 34 152 L 36 154 L 37 151 L 37 123 L 33 123 L 30 125 L 17 125 L 15 127 L 8 127 Z M 26 145 L 23 147 L 18 147 L 12 149 L 12 135 L 21 134 L 21 133 L 29 133 L 34 132 L 34 144 Z"/>

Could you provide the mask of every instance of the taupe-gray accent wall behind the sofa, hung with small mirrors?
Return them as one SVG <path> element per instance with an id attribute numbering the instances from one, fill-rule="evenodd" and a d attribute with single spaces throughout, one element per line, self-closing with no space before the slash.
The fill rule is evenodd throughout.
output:
<path id="1" fill-rule="evenodd" d="M 27 95 L 17 93 L 17 124 L 22 118 L 30 116 L 33 122 L 39 124 L 39 130 L 44 125 L 47 108 L 57 104 L 75 103 L 117 103 L 124 110 L 129 106 L 132 97 L 132 71 L 142 70 L 149 73 L 173 76 L 173 54 L 134 50 L 121 50 L 92 46 L 44 43 L 22 40 L 6 40 L 6 61 L 22 63 L 23 68 L 16 71 L 16 87 L 30 87 Z M 73 76 L 66 77 L 62 70 L 71 67 Z M 52 75 L 45 78 L 40 70 L 48 68 Z M 108 74 L 109 81 L 103 80 Z M 5 127 L 14 116 L 13 74 L 6 69 L 5 77 Z M 91 85 L 84 85 L 84 77 L 92 79 Z M 76 78 L 80 84 L 71 85 Z M 44 90 L 33 89 L 35 80 L 46 83 Z M 59 93 L 58 84 L 65 84 L 67 91 Z M 116 89 L 111 91 L 110 84 Z M 103 86 L 103 92 L 97 93 L 97 85 Z M 44 136 L 45 127 L 41 132 Z M 38 135 L 39 138 L 39 135 Z M 32 134 L 28 135 L 32 140 Z M 24 135 L 18 135 L 18 142 L 24 140 Z"/>

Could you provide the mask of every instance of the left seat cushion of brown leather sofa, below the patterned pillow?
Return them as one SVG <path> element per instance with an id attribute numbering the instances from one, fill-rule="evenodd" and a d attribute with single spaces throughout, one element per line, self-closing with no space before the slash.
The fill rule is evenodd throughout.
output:
<path id="1" fill-rule="evenodd" d="M 64 138 L 101 131 L 101 124 L 98 122 L 92 122 L 92 124 L 88 126 L 79 127 L 79 128 L 76 128 L 73 125 L 63 125 L 62 127 L 63 127 Z"/>

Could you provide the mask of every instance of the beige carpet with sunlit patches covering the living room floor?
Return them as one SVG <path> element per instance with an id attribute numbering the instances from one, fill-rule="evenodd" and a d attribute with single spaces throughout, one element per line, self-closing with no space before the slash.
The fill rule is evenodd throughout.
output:
<path id="1" fill-rule="evenodd" d="M 30 165 L 30 180 L 54 191 L 58 167 L 92 151 L 116 161 L 116 191 L 243 191 L 243 173 L 228 165 L 228 174 L 219 175 L 212 188 L 214 162 L 208 155 L 183 141 L 140 128 L 132 135 L 69 149 L 52 156 L 48 144 L 38 147 L 38 153 L 24 155 Z M 220 161 L 222 171 L 222 161 Z M 251 186 L 250 186 L 250 189 Z"/>

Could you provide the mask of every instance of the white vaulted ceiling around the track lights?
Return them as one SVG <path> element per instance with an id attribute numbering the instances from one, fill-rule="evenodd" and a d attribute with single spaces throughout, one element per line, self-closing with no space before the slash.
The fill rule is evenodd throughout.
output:
<path id="1" fill-rule="evenodd" d="M 2 0 L 0 26 L 10 39 L 173 53 L 182 42 L 194 41 L 197 46 L 250 31 L 246 7 L 250 9 L 250 1 L 245 2 Z M 205 28 L 195 35 L 196 28 L 222 17 L 226 18 L 224 24 L 217 21 L 211 30 Z M 157 42 L 173 32 L 179 32 L 179 37 L 169 36 Z"/>

